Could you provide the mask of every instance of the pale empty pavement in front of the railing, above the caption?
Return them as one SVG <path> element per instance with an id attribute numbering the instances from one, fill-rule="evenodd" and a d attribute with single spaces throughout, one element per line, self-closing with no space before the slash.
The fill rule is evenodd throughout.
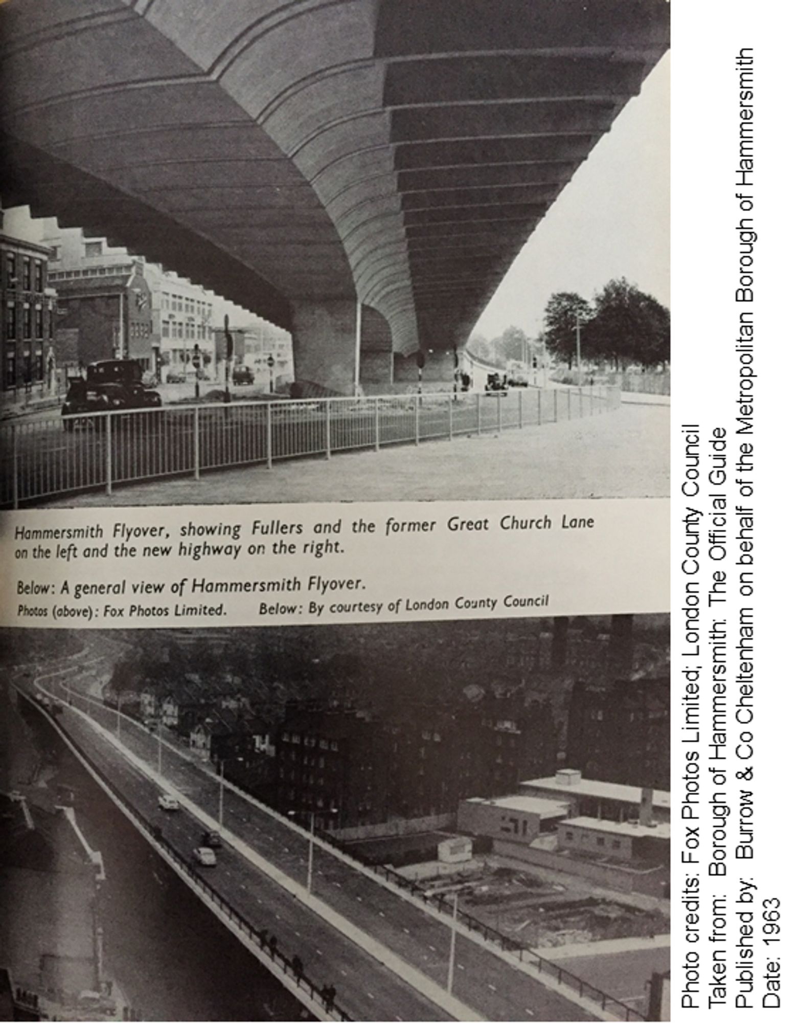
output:
<path id="1" fill-rule="evenodd" d="M 646 396 L 659 398 L 659 396 Z M 607 415 L 416 447 L 223 470 L 87 493 L 51 507 L 305 501 L 667 497 L 670 409 L 624 403 Z"/>

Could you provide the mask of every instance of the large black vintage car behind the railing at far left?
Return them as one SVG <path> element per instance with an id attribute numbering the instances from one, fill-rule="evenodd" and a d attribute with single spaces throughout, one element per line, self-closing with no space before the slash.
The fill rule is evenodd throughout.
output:
<path id="1" fill-rule="evenodd" d="M 79 422 L 101 429 L 102 416 L 82 419 L 89 412 L 112 412 L 134 408 L 158 408 L 161 395 L 142 383 L 143 370 L 134 359 L 105 359 L 86 367 L 86 375 L 71 376 L 61 405 L 63 429 Z"/>

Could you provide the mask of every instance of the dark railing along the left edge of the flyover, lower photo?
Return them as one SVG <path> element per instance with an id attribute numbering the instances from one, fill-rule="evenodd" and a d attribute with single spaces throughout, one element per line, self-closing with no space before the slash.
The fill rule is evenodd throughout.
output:
<path id="1" fill-rule="evenodd" d="M 27 693 L 19 690 L 17 692 L 33 703 L 33 700 L 31 700 L 31 697 Z M 49 712 L 50 716 L 53 714 L 53 706 L 46 709 L 40 709 L 45 710 L 46 713 Z M 75 743 L 75 740 L 73 740 L 70 732 L 63 727 L 60 721 L 53 720 L 53 725 L 58 732 L 64 736 L 71 745 Z M 268 932 L 265 928 L 258 928 L 252 924 L 246 917 L 242 916 L 242 914 L 234 908 L 234 906 L 228 902 L 227 899 L 213 887 L 213 885 L 208 883 L 206 878 L 195 870 L 191 860 L 175 849 L 175 847 L 164 838 L 160 826 L 149 822 L 149 820 L 143 813 L 141 813 L 135 804 L 131 802 L 119 786 L 110 781 L 103 769 L 96 763 L 91 754 L 88 753 L 83 746 L 80 747 L 80 755 L 92 771 L 94 771 L 98 777 L 102 779 L 102 784 L 113 794 L 114 798 L 125 807 L 131 817 L 135 818 L 139 829 L 146 832 L 151 842 L 158 846 L 159 851 L 162 852 L 167 860 L 169 860 L 174 870 L 178 874 L 182 874 L 192 885 L 198 888 L 203 894 L 221 910 L 223 917 L 226 917 L 232 924 L 234 924 L 250 942 L 254 943 L 261 949 L 263 954 L 268 955 L 271 959 L 271 961 L 278 968 L 278 971 L 281 971 L 281 975 L 284 978 L 284 986 L 289 991 L 291 991 L 293 987 L 298 988 L 307 997 L 309 997 L 312 1003 L 317 1004 L 320 1010 L 323 1010 L 325 1017 L 328 1019 L 344 1021 L 352 1019 L 351 1016 L 347 1015 L 347 1013 L 345 1013 L 343 1009 L 336 1004 L 328 988 L 319 987 L 306 976 L 304 966 L 297 955 L 289 958 L 289 955 L 286 955 L 279 948 L 278 938 L 275 934 Z"/>

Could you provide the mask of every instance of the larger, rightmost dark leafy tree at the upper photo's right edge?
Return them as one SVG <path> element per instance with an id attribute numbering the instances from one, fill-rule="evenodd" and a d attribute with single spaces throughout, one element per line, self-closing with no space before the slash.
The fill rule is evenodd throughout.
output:
<path id="1" fill-rule="evenodd" d="M 621 277 L 605 284 L 594 301 L 587 329 L 594 355 L 612 360 L 616 369 L 670 360 L 670 312 L 653 296 Z"/>

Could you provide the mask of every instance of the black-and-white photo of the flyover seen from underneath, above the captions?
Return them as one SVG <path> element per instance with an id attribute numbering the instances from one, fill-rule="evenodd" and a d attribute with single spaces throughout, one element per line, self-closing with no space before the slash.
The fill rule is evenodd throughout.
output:
<path id="1" fill-rule="evenodd" d="M 5 0 L 0 505 L 664 497 L 667 0 Z"/>

